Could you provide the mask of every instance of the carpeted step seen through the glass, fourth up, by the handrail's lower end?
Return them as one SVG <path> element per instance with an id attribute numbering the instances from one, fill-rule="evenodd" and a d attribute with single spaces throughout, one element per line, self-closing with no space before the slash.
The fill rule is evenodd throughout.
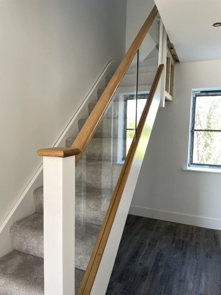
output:
<path id="1" fill-rule="evenodd" d="M 123 164 L 81 159 L 75 170 L 75 184 L 98 189 L 115 189 Z"/>

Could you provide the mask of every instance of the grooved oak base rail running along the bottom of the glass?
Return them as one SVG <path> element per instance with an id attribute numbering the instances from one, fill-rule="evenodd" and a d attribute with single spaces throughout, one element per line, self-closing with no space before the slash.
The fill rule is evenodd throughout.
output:
<path id="1" fill-rule="evenodd" d="M 95 277 L 98 272 L 98 268 L 99 268 L 100 261 L 103 256 L 103 252 L 104 252 L 104 249 L 105 249 L 105 246 L 106 246 L 109 234 L 110 234 L 110 230 L 113 225 L 113 221 L 114 221 L 116 212 L 118 210 L 119 203 L 121 201 L 121 196 L 123 194 L 126 180 L 128 178 L 128 174 L 130 172 L 130 168 L 131 168 L 132 161 L 133 161 L 133 158 L 134 158 L 134 155 L 136 152 L 136 148 L 138 146 L 138 142 L 141 137 L 141 133 L 142 133 L 145 121 L 146 121 L 146 117 L 149 112 L 151 102 L 154 99 L 154 95 L 155 95 L 157 86 L 159 84 L 163 69 L 164 69 L 164 65 L 163 64 L 159 65 L 158 70 L 156 72 L 156 76 L 154 78 L 154 82 L 151 86 L 151 90 L 148 95 L 148 100 L 146 102 L 146 105 L 144 107 L 140 121 L 137 126 L 136 140 L 132 141 L 132 144 L 131 144 L 128 154 L 126 156 L 126 160 L 123 164 L 123 168 L 122 168 L 120 176 L 118 178 L 118 182 L 116 184 L 116 188 L 114 190 L 113 196 L 111 198 L 111 201 L 110 201 L 110 204 L 108 207 L 108 211 L 105 215 L 103 224 L 101 226 L 97 241 L 95 243 L 92 255 L 91 255 L 89 263 L 88 263 L 88 267 L 87 267 L 85 274 L 83 276 L 83 280 L 81 282 L 80 289 L 78 291 L 78 295 L 89 295 L 91 292 L 91 289 L 93 287 L 93 283 L 94 283 Z"/>

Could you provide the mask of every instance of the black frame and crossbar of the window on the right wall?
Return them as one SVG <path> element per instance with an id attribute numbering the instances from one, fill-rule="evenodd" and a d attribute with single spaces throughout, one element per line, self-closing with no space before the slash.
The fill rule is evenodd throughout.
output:
<path id="1" fill-rule="evenodd" d="M 189 148 L 189 164 L 188 166 L 204 166 L 204 167 L 215 167 L 221 168 L 221 165 L 209 164 L 209 163 L 194 163 L 193 162 L 193 149 L 194 149 L 194 132 L 195 131 L 209 131 L 209 132 L 221 132 L 220 130 L 211 129 L 194 129 L 195 125 L 195 115 L 196 115 L 196 100 L 197 97 L 202 96 L 221 96 L 221 90 L 211 90 L 211 91 L 193 91 L 192 95 L 192 116 L 190 125 L 190 148 Z"/>

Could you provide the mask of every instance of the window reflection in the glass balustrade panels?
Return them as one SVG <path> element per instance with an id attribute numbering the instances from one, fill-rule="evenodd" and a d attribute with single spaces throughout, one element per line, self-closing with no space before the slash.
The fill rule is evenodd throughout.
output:
<path id="1" fill-rule="evenodd" d="M 146 100 L 148 98 L 148 93 L 137 95 L 137 118 L 136 118 L 136 96 L 135 95 L 125 95 L 124 96 L 124 146 L 123 146 L 123 157 L 122 160 L 126 159 L 126 155 L 131 146 L 133 137 L 136 130 L 136 120 L 137 124 L 141 118 L 141 114 L 144 110 Z"/>

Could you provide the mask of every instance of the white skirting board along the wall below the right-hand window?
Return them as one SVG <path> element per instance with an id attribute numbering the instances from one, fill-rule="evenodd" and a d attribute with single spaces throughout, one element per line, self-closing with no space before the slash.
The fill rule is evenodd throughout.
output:
<path id="1" fill-rule="evenodd" d="M 129 214 L 221 230 L 221 220 L 131 205 Z"/>

